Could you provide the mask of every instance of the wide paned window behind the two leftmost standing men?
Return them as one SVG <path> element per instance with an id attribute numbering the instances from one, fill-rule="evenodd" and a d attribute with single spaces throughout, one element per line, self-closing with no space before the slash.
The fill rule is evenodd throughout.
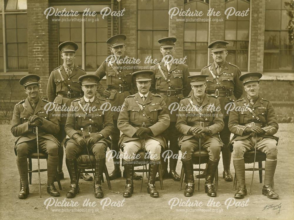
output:
<path id="1" fill-rule="evenodd" d="M 78 50 L 76 51 L 75 64 L 80 67 L 84 66 L 86 71 L 96 71 L 107 57 L 107 16 L 102 19 L 102 15 L 97 13 L 96 17 L 83 17 L 83 19 L 94 19 L 93 22 L 78 20 L 81 18 L 80 14 L 77 17 L 71 17 L 74 19 L 73 21 L 59 22 L 59 43 L 76 42 Z M 84 45 L 82 45 L 83 42 Z M 84 65 L 82 51 L 85 52 Z M 63 60 L 60 58 L 60 64 L 62 63 Z"/>

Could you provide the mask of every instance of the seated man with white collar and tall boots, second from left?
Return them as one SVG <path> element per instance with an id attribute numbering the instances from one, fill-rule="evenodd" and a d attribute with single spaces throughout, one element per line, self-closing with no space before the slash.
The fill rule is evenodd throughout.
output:
<path id="1" fill-rule="evenodd" d="M 95 96 L 97 81 L 100 78 L 93 74 L 80 76 L 84 96 L 71 103 L 66 120 L 65 132 L 71 138 L 66 143 L 66 167 L 71 178 L 70 190 L 67 198 L 74 198 L 79 193 L 77 185 L 76 158 L 82 152 L 93 152 L 95 165 L 94 194 L 96 198 L 103 198 L 101 178 L 105 166 L 107 147 L 111 145 L 108 136 L 113 131 L 113 121 L 110 111 L 103 111 L 101 105 L 106 101 Z"/>

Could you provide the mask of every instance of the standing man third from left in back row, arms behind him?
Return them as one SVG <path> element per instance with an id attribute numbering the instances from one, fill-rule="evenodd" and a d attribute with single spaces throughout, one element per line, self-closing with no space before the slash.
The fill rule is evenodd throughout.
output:
<path id="1" fill-rule="evenodd" d="M 188 66 L 174 58 L 176 41 L 177 38 L 175 37 L 166 37 L 158 40 L 163 58 L 151 68 L 154 74 L 152 75 L 150 91 L 161 95 L 168 108 L 170 105 L 173 106 L 179 103 L 191 91 Z M 169 174 L 167 171 L 168 161 L 163 159 L 166 158 L 166 152 L 162 154 L 161 159 L 163 165 L 161 168 L 163 178 L 170 177 L 175 181 L 180 181 L 180 177 L 176 172 L 179 152 L 179 133 L 176 129 L 177 114 L 178 111 L 169 112 L 171 123 L 168 129 L 162 134 L 167 146 L 169 142 Z"/>

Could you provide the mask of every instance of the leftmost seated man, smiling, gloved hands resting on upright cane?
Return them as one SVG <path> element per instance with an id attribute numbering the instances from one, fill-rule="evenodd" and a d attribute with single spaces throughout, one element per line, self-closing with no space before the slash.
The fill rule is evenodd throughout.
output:
<path id="1" fill-rule="evenodd" d="M 14 106 L 12 116 L 11 133 L 17 137 L 14 150 L 16 152 L 16 164 L 21 179 L 21 191 L 19 198 L 24 199 L 29 194 L 28 160 L 30 153 L 36 152 L 37 142 L 34 130 L 38 127 L 39 150 L 48 154 L 47 159 L 47 192 L 51 196 L 59 196 L 54 186 L 54 178 L 58 164 L 59 142 L 54 137 L 59 132 L 57 117 L 49 102 L 39 98 L 38 75 L 26 75 L 19 84 L 24 86 L 24 92 L 28 98 Z"/>

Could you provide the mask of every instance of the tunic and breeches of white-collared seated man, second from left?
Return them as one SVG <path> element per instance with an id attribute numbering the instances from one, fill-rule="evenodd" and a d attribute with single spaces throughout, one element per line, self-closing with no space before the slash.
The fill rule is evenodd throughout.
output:
<path id="1" fill-rule="evenodd" d="M 105 157 L 107 147 L 111 144 L 108 137 L 114 128 L 111 111 L 103 110 L 104 103 L 106 101 L 98 97 L 95 97 L 92 103 L 86 103 L 84 97 L 74 100 L 71 103 L 65 125 L 66 134 L 70 138 L 78 134 L 82 138 L 84 135 L 86 141 L 88 141 L 90 137 L 98 133 L 103 135 L 103 139 L 90 147 L 90 150 L 93 151 L 97 159 Z M 83 128 L 83 132 L 81 128 Z M 101 147 L 103 148 L 102 152 L 100 150 Z M 85 146 L 79 146 L 75 140 L 71 139 L 66 143 L 66 158 L 75 159 L 77 154 L 81 153 L 84 149 L 86 149 Z"/>

